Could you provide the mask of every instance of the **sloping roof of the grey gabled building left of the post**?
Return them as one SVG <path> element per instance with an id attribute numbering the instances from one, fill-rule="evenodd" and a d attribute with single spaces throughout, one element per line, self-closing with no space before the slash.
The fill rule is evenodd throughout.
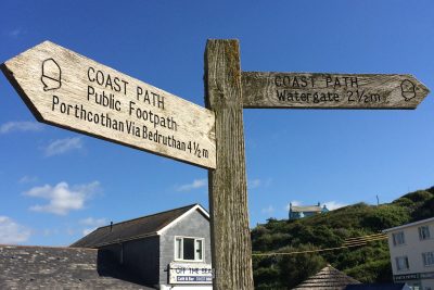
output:
<path id="1" fill-rule="evenodd" d="M 98 248 L 105 244 L 156 236 L 193 211 L 200 211 L 206 218 L 209 218 L 209 214 L 200 204 L 191 204 L 167 212 L 100 227 L 76 241 L 71 247 Z"/>

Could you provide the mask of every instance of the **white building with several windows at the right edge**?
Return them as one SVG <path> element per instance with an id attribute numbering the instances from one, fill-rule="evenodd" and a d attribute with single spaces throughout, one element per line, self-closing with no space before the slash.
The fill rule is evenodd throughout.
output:
<path id="1" fill-rule="evenodd" d="M 434 290 L 434 217 L 383 230 L 395 282 Z"/>

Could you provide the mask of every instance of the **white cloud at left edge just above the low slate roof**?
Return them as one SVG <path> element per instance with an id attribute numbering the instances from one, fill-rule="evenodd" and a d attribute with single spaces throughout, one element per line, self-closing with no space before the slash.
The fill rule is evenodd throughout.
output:
<path id="1" fill-rule="evenodd" d="M 21 243 L 28 240 L 30 229 L 8 216 L 0 216 L 0 243 Z"/>

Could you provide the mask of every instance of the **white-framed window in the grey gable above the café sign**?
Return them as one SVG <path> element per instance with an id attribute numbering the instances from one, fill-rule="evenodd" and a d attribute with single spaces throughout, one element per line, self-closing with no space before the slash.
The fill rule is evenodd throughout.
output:
<path id="1" fill-rule="evenodd" d="M 203 261 L 204 239 L 199 238 L 175 238 L 175 260 Z"/>

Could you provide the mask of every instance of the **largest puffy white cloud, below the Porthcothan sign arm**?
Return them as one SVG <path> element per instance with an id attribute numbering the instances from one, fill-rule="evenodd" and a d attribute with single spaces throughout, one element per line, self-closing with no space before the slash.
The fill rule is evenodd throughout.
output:
<path id="1" fill-rule="evenodd" d="M 30 207 L 35 212 L 52 213 L 66 215 L 71 211 L 78 211 L 85 207 L 85 202 L 89 200 L 99 189 L 100 182 L 93 181 L 88 185 L 75 186 L 69 188 L 68 184 L 60 182 L 52 187 L 44 185 L 34 187 L 24 192 L 25 196 L 48 200 L 48 204 L 37 204 Z"/>

